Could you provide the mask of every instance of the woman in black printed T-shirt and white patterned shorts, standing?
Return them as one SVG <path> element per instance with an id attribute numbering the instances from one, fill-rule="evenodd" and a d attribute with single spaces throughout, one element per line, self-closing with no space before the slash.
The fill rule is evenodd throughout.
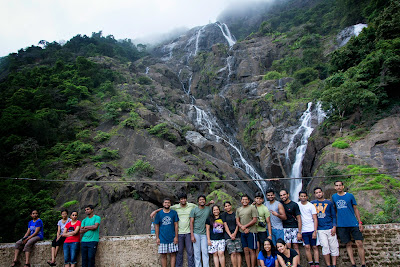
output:
<path id="1" fill-rule="evenodd" d="M 213 254 L 214 266 L 225 267 L 225 239 L 224 239 L 224 223 L 219 216 L 221 213 L 219 207 L 212 207 L 212 214 L 206 220 L 208 253 Z"/>

